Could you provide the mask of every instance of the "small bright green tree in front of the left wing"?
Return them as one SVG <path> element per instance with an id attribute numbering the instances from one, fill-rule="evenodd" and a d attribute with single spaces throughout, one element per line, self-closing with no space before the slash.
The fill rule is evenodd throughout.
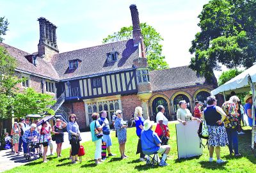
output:
<path id="1" fill-rule="evenodd" d="M 36 93 L 32 88 L 23 93 L 17 93 L 13 101 L 13 114 L 15 117 L 24 117 L 28 114 L 54 114 L 50 107 L 56 103 L 53 96 L 49 94 Z"/>

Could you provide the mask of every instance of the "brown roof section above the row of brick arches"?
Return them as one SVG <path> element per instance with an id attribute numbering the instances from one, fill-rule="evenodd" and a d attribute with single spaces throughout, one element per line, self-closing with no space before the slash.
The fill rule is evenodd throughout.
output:
<path id="1" fill-rule="evenodd" d="M 150 82 L 152 91 L 206 84 L 205 78 L 198 77 L 188 66 L 150 71 Z"/>

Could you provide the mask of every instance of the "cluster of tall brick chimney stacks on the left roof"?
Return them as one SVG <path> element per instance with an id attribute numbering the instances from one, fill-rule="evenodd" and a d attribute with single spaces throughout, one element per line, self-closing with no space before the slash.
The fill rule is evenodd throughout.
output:
<path id="1" fill-rule="evenodd" d="M 38 43 L 38 56 L 44 57 L 45 61 L 51 61 L 54 54 L 58 54 L 56 42 L 56 26 L 44 17 L 38 19 L 40 27 L 40 39 Z"/>

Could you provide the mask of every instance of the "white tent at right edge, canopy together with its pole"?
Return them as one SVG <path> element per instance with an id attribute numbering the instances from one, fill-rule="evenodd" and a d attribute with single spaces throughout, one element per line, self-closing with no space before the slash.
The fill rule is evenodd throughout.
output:
<path id="1" fill-rule="evenodd" d="M 217 87 L 216 89 L 211 91 L 212 95 L 216 94 L 230 94 L 232 91 L 235 91 L 236 93 L 243 93 L 245 91 L 252 91 L 253 95 L 253 107 L 252 107 L 252 117 L 253 117 L 253 128 L 252 128 L 252 148 L 254 146 L 255 141 L 255 132 L 256 132 L 256 126 L 255 126 L 255 105 L 256 105 L 256 92 L 255 92 L 255 86 L 256 85 L 256 64 L 252 67 L 248 68 L 247 70 L 243 71 L 243 73 L 237 75 L 233 79 L 229 80 L 225 84 Z"/>

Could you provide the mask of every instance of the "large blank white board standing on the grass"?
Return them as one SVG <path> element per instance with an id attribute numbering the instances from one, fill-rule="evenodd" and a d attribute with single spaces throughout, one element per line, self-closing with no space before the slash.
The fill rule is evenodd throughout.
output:
<path id="1" fill-rule="evenodd" d="M 186 126 L 182 123 L 176 124 L 178 159 L 203 154 L 203 148 L 200 148 L 197 134 L 199 125 L 198 121 L 188 121 Z"/>

